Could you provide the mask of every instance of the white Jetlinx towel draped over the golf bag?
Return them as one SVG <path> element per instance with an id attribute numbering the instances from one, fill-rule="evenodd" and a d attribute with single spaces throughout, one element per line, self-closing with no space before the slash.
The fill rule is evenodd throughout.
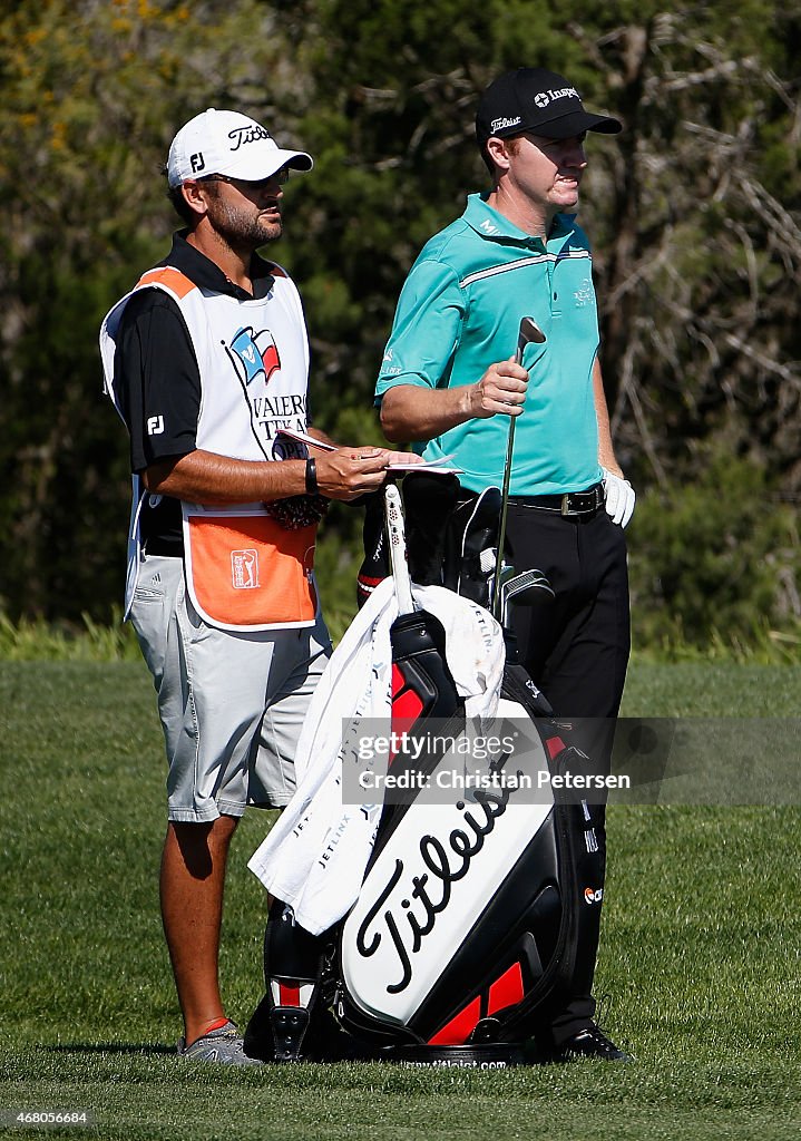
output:
<path id="1" fill-rule="evenodd" d="M 418 607 L 445 628 L 445 656 L 468 718 L 495 715 L 503 678 L 500 625 L 468 599 L 440 586 L 412 588 Z M 317 685 L 298 741 L 298 787 L 248 867 L 321 934 L 353 907 L 364 879 L 381 804 L 342 803 L 342 726 L 347 738 L 370 719 L 371 735 L 389 735 L 391 646 L 397 617 L 393 578 L 386 578 L 359 610 Z"/>

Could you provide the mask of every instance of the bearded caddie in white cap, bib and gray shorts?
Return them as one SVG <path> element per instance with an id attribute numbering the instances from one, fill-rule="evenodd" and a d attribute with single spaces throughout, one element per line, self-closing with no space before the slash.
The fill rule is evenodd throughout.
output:
<path id="1" fill-rule="evenodd" d="M 319 518 L 329 500 L 381 487 L 399 455 L 338 447 L 308 420 L 300 298 L 258 251 L 281 237 L 289 171 L 312 165 L 236 111 L 181 127 L 165 173 L 186 226 L 100 331 L 134 472 L 126 615 L 167 745 L 160 888 L 178 1053 L 240 1066 L 257 1061 L 219 992 L 228 845 L 248 804 L 282 808 L 294 790 L 331 653 L 313 573 Z"/>

